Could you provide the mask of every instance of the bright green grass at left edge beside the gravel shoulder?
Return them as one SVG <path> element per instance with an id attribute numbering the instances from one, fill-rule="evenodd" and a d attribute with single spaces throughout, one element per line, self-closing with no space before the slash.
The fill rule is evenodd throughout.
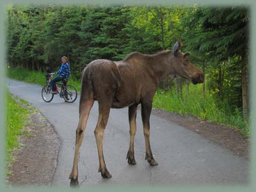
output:
<path id="1" fill-rule="evenodd" d="M 24 100 L 13 97 L 9 92 L 6 92 L 6 163 L 7 167 L 13 161 L 12 151 L 17 148 L 19 137 L 26 134 L 22 129 L 29 121 L 27 115 L 29 110 L 21 107 L 21 104 L 26 104 Z"/>

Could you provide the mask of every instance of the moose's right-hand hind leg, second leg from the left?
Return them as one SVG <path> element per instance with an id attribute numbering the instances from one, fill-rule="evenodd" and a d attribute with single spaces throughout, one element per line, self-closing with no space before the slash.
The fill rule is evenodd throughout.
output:
<path id="1" fill-rule="evenodd" d="M 111 178 L 111 174 L 107 171 L 104 155 L 103 155 L 103 138 L 104 130 L 107 125 L 107 120 L 109 118 L 110 107 L 102 107 L 99 103 L 99 119 L 97 122 L 96 129 L 94 130 L 94 135 L 97 143 L 97 150 L 99 155 L 99 172 L 101 172 L 102 178 Z"/>

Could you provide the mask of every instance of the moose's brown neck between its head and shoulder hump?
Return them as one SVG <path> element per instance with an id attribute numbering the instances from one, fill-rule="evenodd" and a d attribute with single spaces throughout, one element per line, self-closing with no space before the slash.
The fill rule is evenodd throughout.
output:
<path id="1" fill-rule="evenodd" d="M 155 80 L 159 84 L 160 80 L 166 79 L 169 75 L 175 74 L 172 68 L 172 57 L 170 50 L 165 50 L 154 55 L 150 55 L 150 67 L 154 73 Z"/>

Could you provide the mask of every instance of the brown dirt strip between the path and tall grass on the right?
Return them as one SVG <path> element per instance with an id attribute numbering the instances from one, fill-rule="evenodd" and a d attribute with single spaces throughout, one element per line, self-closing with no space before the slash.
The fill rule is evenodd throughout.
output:
<path id="1" fill-rule="evenodd" d="M 210 121 L 200 120 L 200 118 L 192 115 L 180 115 L 176 113 L 170 113 L 165 110 L 154 108 L 152 114 L 165 118 L 170 122 L 176 123 L 192 130 L 213 142 L 229 148 L 234 151 L 235 154 L 243 156 L 249 159 L 250 147 L 249 138 L 239 133 L 234 128 L 221 125 L 219 123 L 212 123 Z"/>

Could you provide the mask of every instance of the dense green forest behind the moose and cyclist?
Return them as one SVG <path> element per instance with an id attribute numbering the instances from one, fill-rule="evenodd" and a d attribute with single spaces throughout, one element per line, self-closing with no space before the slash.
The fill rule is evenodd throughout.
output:
<path id="1" fill-rule="evenodd" d="M 9 6 L 7 65 L 55 72 L 66 55 L 71 78 L 79 80 L 94 59 L 172 50 L 181 39 L 182 51 L 189 51 L 189 60 L 204 72 L 203 99 L 210 95 L 210 105 L 225 106 L 248 123 L 249 24 L 245 6 Z M 185 100 L 192 85 L 169 77 L 159 90 L 157 94 L 172 91 Z"/>

